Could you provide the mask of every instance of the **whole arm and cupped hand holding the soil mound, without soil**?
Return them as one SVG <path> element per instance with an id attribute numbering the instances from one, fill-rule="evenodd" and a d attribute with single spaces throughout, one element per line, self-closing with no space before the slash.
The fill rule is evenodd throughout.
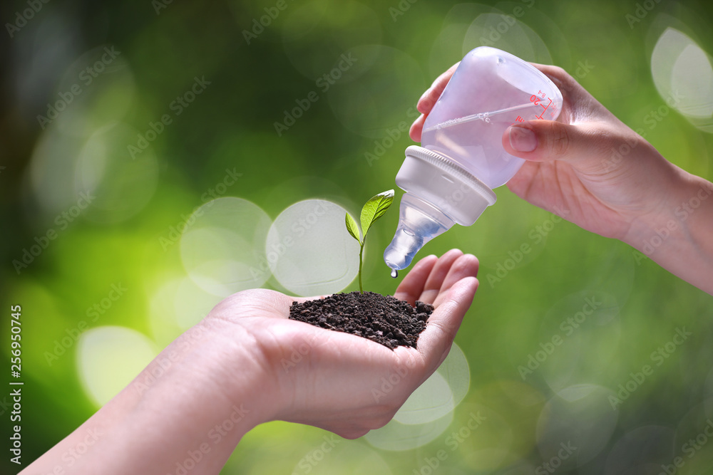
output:
<path id="1" fill-rule="evenodd" d="M 416 348 L 391 350 L 289 320 L 294 298 L 279 292 L 235 293 L 22 473 L 53 471 L 97 428 L 101 437 L 73 473 L 173 473 L 177 461 L 198 453 L 193 472 L 217 475 L 248 431 L 275 419 L 360 437 L 389 422 L 446 358 L 478 287 L 477 271 L 478 260 L 457 250 L 411 269 L 394 296 L 435 307 Z M 386 392 L 385 379 L 393 382 Z"/>

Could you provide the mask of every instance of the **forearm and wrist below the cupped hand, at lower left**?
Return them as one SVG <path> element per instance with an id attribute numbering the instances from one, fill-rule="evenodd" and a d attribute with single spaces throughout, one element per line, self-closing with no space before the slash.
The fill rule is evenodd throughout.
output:
<path id="1" fill-rule="evenodd" d="M 25 472 L 165 475 L 183 466 L 218 474 L 242 436 L 269 418 L 250 348 L 220 333 L 200 324 L 181 335 Z M 242 371 L 225 374 L 227 367 Z"/>

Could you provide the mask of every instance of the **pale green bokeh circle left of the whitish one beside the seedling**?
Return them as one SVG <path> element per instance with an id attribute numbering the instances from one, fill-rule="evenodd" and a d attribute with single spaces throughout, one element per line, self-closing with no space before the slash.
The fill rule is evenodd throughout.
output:
<path id="1" fill-rule="evenodd" d="M 247 199 L 207 202 L 182 221 L 180 255 L 188 276 L 216 296 L 262 286 L 270 277 L 265 238 L 270 216 Z"/>

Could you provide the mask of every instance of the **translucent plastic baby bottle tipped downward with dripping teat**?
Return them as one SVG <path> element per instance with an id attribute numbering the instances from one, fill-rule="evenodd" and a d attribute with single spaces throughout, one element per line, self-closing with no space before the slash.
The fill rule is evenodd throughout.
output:
<path id="1" fill-rule="evenodd" d="M 406 148 L 396 174 L 406 193 L 386 265 L 406 268 L 454 223 L 475 223 L 496 202 L 493 188 L 525 163 L 503 149 L 505 130 L 525 120 L 555 120 L 561 105 L 558 88 L 530 63 L 487 46 L 466 54 L 426 118 L 421 147 Z"/>

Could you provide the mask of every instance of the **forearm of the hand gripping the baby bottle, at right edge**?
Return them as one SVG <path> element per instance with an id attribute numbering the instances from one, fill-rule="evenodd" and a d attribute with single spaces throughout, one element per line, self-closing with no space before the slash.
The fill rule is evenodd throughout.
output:
<path id="1" fill-rule="evenodd" d="M 632 225 L 627 243 L 713 295 L 713 184 L 682 172 L 665 207 Z"/>

